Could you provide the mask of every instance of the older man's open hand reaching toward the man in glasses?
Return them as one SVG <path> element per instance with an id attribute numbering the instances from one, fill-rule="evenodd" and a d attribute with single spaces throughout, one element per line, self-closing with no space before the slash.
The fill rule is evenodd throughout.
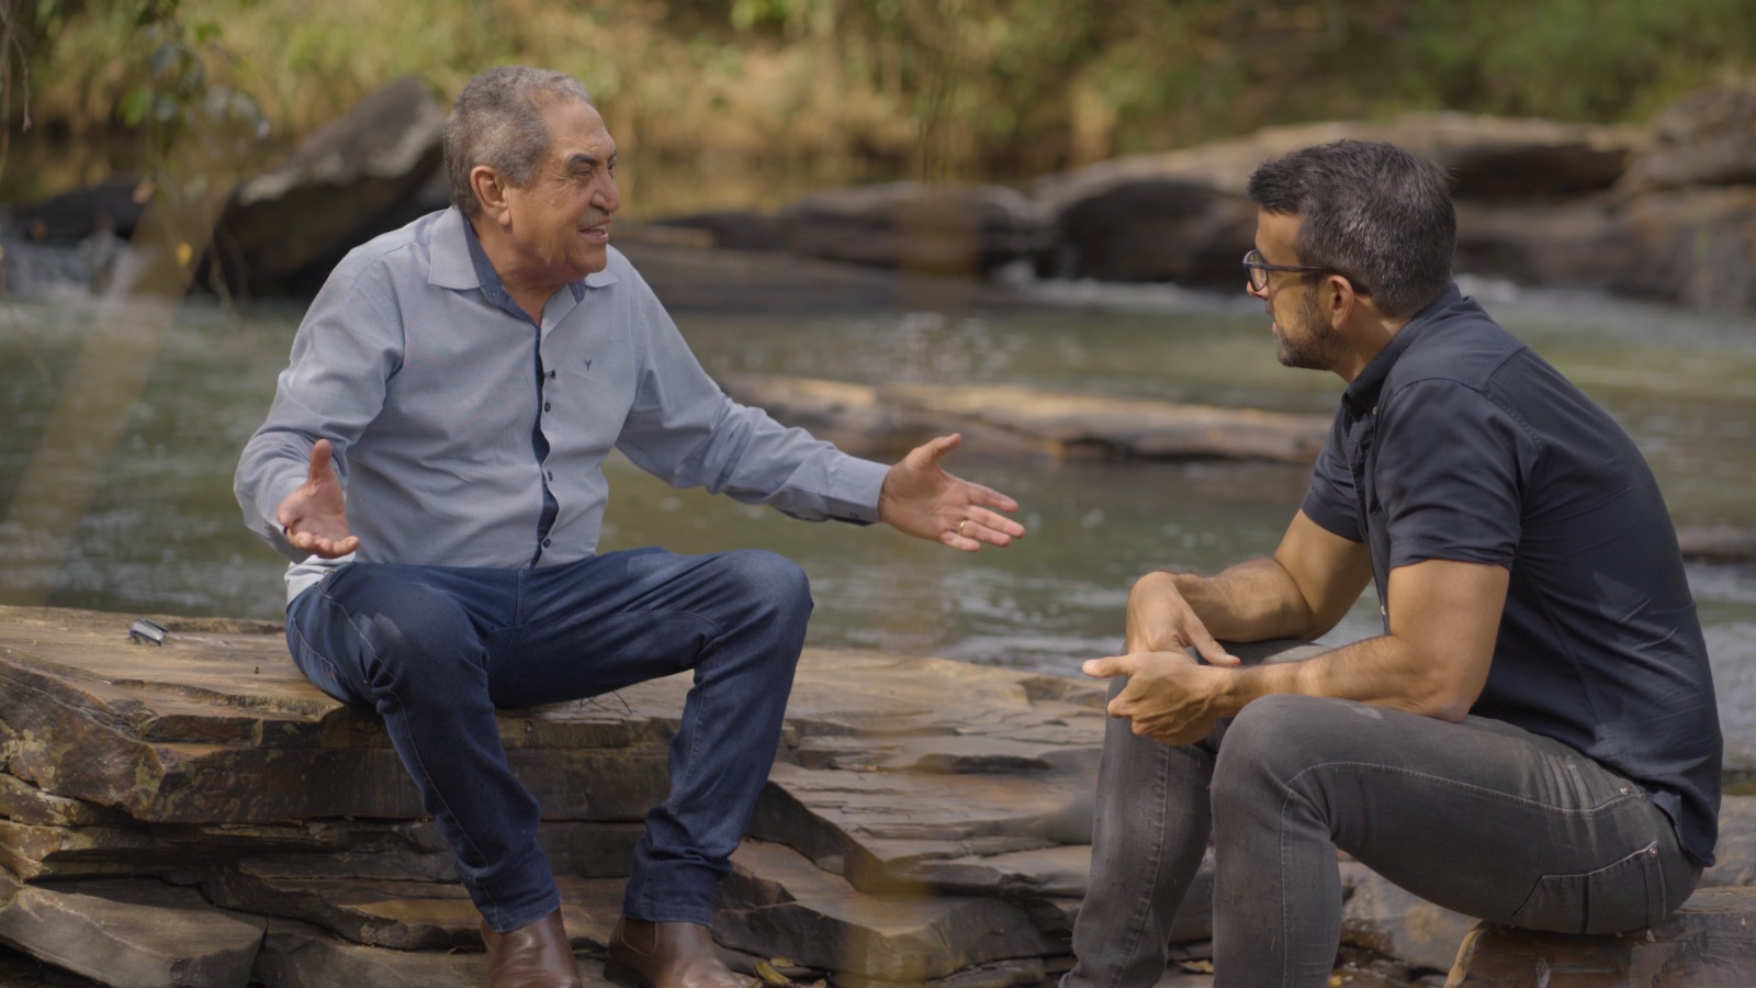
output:
<path id="1" fill-rule="evenodd" d="M 1017 512 L 1011 498 L 945 473 L 939 461 L 962 436 L 939 436 L 915 447 L 890 468 L 878 494 L 878 520 L 915 538 L 975 552 L 982 543 L 1006 547 L 1024 538 L 1024 526 L 999 512 Z"/>

